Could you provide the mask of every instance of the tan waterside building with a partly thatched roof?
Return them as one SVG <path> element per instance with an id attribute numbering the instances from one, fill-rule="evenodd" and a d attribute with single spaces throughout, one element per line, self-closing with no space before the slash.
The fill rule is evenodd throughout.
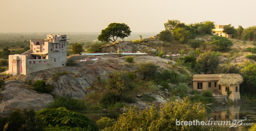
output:
<path id="1" fill-rule="evenodd" d="M 243 82 L 240 74 L 196 74 L 193 76 L 193 89 L 212 90 L 222 95 L 227 95 L 231 91 L 230 100 L 240 99 L 239 84 Z"/>

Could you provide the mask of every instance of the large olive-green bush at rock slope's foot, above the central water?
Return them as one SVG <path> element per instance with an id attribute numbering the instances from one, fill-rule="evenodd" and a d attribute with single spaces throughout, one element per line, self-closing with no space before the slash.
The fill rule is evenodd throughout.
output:
<path id="1" fill-rule="evenodd" d="M 123 95 L 134 88 L 127 71 L 113 71 L 108 75 L 106 88 L 116 93 L 122 102 Z"/>

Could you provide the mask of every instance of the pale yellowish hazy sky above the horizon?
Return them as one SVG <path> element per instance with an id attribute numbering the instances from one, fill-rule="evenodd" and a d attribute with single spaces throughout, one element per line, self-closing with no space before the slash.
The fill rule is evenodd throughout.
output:
<path id="1" fill-rule="evenodd" d="M 0 0 L 0 32 L 100 32 L 126 23 L 159 32 L 168 20 L 256 25 L 256 0 Z"/>

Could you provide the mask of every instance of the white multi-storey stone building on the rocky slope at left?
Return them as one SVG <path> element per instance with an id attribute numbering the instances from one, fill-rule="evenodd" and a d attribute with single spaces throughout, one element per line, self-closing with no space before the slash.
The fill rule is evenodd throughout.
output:
<path id="1" fill-rule="evenodd" d="M 30 74 L 53 67 L 66 66 L 67 35 L 47 35 L 43 40 L 30 40 L 30 50 L 9 55 L 9 74 Z"/>

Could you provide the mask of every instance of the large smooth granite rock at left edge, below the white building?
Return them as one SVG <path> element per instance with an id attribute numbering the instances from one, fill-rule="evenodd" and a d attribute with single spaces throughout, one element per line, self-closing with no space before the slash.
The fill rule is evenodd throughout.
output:
<path id="1" fill-rule="evenodd" d="M 20 80 L 7 80 L 5 89 L 0 93 L 0 113 L 10 113 L 14 108 L 40 110 L 54 99 L 50 94 L 38 94 L 26 88 Z"/>

